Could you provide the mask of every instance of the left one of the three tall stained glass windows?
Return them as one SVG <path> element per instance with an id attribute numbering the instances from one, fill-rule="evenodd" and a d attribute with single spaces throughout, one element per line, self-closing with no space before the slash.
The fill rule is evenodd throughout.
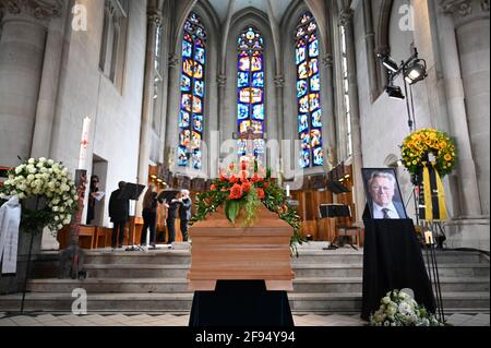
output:
<path id="1" fill-rule="evenodd" d="M 205 96 L 206 31 L 191 12 L 184 23 L 179 112 L 178 165 L 202 169 L 203 111 Z"/>

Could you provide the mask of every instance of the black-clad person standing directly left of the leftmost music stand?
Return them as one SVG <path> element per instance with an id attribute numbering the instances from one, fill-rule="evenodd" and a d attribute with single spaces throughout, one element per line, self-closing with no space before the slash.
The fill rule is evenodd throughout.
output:
<path id="1" fill-rule="evenodd" d="M 116 249 L 116 242 L 118 240 L 118 248 L 122 248 L 124 241 L 124 228 L 130 216 L 130 200 L 120 199 L 122 189 L 127 183 L 124 181 L 119 182 L 119 189 L 111 193 L 109 199 L 109 217 L 111 218 L 112 227 L 112 249 Z"/>

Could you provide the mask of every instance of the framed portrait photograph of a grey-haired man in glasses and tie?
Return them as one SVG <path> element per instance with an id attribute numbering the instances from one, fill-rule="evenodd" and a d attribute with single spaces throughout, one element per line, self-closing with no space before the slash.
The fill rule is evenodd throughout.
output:
<path id="1" fill-rule="evenodd" d="M 361 171 L 371 218 L 408 218 L 395 169 L 363 168 Z"/>

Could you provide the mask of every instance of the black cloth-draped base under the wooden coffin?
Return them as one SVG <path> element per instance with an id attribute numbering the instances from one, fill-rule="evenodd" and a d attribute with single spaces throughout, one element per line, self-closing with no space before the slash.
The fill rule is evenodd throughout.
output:
<path id="1" fill-rule="evenodd" d="M 191 327 L 294 327 L 286 291 L 266 291 L 264 280 L 218 280 L 215 291 L 194 293 Z"/>

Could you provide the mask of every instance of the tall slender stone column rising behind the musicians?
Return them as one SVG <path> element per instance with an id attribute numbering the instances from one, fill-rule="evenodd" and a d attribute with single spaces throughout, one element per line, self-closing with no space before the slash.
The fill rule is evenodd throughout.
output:
<path id="1" fill-rule="evenodd" d="M 147 35 L 146 35 L 146 61 L 145 61 L 145 84 L 143 87 L 143 110 L 140 129 L 140 159 L 139 159 L 139 183 L 148 183 L 148 165 L 151 154 L 152 120 L 154 113 L 154 86 L 155 86 L 155 45 L 157 28 L 161 23 L 160 13 L 149 8 L 147 13 Z M 139 215 L 141 206 L 139 204 Z"/>

